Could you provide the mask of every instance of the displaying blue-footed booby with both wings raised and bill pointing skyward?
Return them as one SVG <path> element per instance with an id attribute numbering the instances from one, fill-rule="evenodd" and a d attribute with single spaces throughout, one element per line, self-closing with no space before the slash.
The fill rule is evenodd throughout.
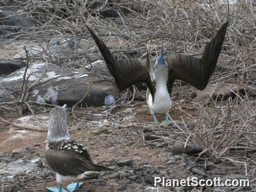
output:
<path id="1" fill-rule="evenodd" d="M 224 23 L 215 37 L 207 43 L 201 59 L 178 53 L 170 54 L 165 58 L 162 45 L 160 55 L 155 62 L 155 71 L 151 64 L 148 46 L 146 65 L 136 58 L 116 60 L 104 42 L 88 26 L 87 28 L 101 51 L 117 87 L 124 90 L 134 83 L 145 82 L 148 87 L 146 91 L 147 104 L 155 123 L 158 123 L 155 113 L 165 113 L 164 123 L 168 123 L 168 112 L 172 107 L 171 91 L 174 80 L 182 80 L 199 90 L 206 88 L 210 76 L 215 70 L 228 23 Z"/>

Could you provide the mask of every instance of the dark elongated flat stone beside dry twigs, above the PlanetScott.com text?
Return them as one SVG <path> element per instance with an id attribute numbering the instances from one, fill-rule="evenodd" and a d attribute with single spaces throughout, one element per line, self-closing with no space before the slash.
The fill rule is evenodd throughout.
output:
<path id="1" fill-rule="evenodd" d="M 195 154 L 195 153 L 200 153 L 202 150 L 201 146 L 198 145 L 186 145 L 186 147 L 184 148 L 184 146 L 174 146 L 172 147 L 169 152 L 172 152 L 173 155 L 177 155 L 177 154 Z"/>

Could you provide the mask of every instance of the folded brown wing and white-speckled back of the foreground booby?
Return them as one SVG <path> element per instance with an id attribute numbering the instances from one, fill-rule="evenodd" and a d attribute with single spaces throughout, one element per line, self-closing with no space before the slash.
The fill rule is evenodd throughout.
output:
<path id="1" fill-rule="evenodd" d="M 86 148 L 75 141 L 61 142 L 56 146 L 50 146 L 45 155 L 50 167 L 64 176 L 78 175 L 87 171 L 113 170 L 105 166 L 95 165 Z"/>

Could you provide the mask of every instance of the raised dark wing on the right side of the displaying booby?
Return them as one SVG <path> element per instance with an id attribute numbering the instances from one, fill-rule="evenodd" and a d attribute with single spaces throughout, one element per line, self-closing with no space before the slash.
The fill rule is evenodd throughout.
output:
<path id="1" fill-rule="evenodd" d="M 216 36 L 206 45 L 201 59 L 182 54 L 171 54 L 166 57 L 169 94 L 175 79 L 187 82 L 199 90 L 206 87 L 216 67 L 228 24 L 229 22 L 224 23 Z"/>

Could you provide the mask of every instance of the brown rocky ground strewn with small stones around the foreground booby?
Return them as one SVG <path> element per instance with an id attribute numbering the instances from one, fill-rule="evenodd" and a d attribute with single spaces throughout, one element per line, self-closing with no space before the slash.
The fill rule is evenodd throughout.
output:
<path id="1" fill-rule="evenodd" d="M 141 110 L 142 108 L 145 110 Z M 153 178 L 161 176 L 177 179 L 192 176 L 199 179 L 255 178 L 253 176 L 254 166 L 247 166 L 247 171 L 250 174 L 245 176 L 244 169 L 240 169 L 241 165 L 216 162 L 211 158 L 197 159 L 198 153 L 202 151 L 201 147 L 198 149 L 189 145 L 188 149 L 194 151 L 185 151 L 186 153 L 175 149 L 173 142 L 176 145 L 179 142 L 179 138 L 175 135 L 175 132 L 179 132 L 177 127 L 172 123 L 151 123 L 151 114 L 147 112 L 146 108 L 145 103 L 142 103 L 137 108 L 128 108 L 132 110 L 119 115 L 120 119 L 99 118 L 97 121 L 88 123 L 73 123 L 72 116 L 68 116 L 71 137 L 87 146 L 95 162 L 114 169 L 97 179 L 85 181 L 81 188 L 82 191 L 174 190 L 174 187 L 156 188 L 153 186 Z M 118 111 L 122 111 L 122 109 Z M 47 114 L 46 112 L 44 115 Z M 68 114 L 71 114 L 70 110 Z M 176 114 L 182 115 L 175 109 L 170 113 L 172 117 L 175 117 Z M 121 120 L 127 117 L 133 118 L 133 121 L 137 122 Z M 47 116 L 40 115 L 36 118 L 41 118 L 41 128 L 46 130 L 44 127 L 49 123 Z M 165 117 L 162 115 L 158 118 L 164 119 Z M 138 119 L 142 121 L 140 122 Z M 177 119 L 174 118 L 174 120 Z M 32 127 L 38 126 L 37 123 L 38 121 L 28 120 L 19 125 Z M 177 125 L 180 123 L 177 122 Z M 187 123 L 189 130 L 195 128 L 194 126 L 194 124 Z M 8 183 L 4 186 L 5 191 L 46 191 L 46 186 L 56 186 L 55 173 L 47 165 L 44 155 L 47 132 L 9 128 L 9 125 L 1 123 L 1 136 L 3 137 L 0 141 L 0 168 L 2 182 Z M 172 135 L 174 135 L 174 141 L 170 139 Z M 169 140 L 167 139 L 166 142 L 166 139 L 161 138 Z M 23 161 L 8 165 L 20 159 Z M 67 184 L 64 183 L 64 186 Z M 193 187 L 180 188 L 185 191 L 192 189 Z M 200 190 L 200 188 L 197 189 Z M 213 188 L 210 187 L 210 189 Z"/>

